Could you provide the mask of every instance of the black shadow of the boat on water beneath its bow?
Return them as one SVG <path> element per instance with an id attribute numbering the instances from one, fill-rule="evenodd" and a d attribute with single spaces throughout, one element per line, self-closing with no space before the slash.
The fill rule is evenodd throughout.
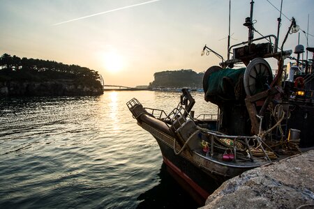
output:
<path id="1" fill-rule="evenodd" d="M 161 165 L 159 184 L 137 197 L 141 201 L 137 208 L 199 208 L 200 206 L 181 188 L 167 171 L 165 163 Z"/>

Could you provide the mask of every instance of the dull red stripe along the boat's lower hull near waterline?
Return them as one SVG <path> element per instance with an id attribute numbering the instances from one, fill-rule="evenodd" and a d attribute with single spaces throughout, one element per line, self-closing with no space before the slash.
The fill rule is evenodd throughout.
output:
<path id="1" fill-rule="evenodd" d="M 207 199 L 207 197 L 209 196 L 209 192 L 206 192 L 199 185 L 197 185 L 197 183 L 190 179 L 190 177 L 188 177 L 186 173 L 184 173 L 178 167 L 176 167 L 172 162 L 170 162 L 170 160 L 167 160 L 165 156 L 163 156 L 163 162 L 165 162 L 165 164 L 167 164 L 168 167 L 170 167 L 175 173 L 177 173 L 181 178 L 183 178 L 186 181 L 186 183 L 188 183 L 188 185 L 190 185 L 195 190 L 195 192 L 202 196 L 202 198 L 204 198 L 205 200 Z"/>

